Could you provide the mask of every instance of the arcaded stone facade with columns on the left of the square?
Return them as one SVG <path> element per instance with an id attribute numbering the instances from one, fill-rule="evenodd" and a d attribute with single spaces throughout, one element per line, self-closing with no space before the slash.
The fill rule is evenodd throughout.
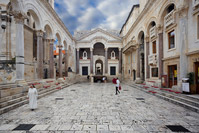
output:
<path id="1" fill-rule="evenodd" d="M 0 0 L 0 7 L 0 84 L 75 71 L 75 41 L 54 11 L 54 0 Z M 65 51 L 57 60 L 54 47 Z"/>

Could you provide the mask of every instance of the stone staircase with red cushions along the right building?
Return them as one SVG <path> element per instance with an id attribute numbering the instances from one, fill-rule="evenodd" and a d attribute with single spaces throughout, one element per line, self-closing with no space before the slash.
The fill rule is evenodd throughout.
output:
<path id="1" fill-rule="evenodd" d="M 180 92 L 176 92 L 171 89 L 163 89 L 156 86 L 146 86 L 141 84 L 129 83 L 127 84 L 133 88 L 155 95 L 166 101 L 199 113 L 199 97 L 190 97 L 189 95 L 181 94 Z"/>

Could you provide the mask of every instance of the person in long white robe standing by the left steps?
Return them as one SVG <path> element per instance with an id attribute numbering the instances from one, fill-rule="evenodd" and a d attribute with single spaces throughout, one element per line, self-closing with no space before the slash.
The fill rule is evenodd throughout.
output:
<path id="1" fill-rule="evenodd" d="M 38 96 L 37 89 L 35 88 L 34 85 L 31 85 L 28 90 L 27 97 L 29 98 L 29 106 L 32 111 L 37 108 L 37 96 Z"/>

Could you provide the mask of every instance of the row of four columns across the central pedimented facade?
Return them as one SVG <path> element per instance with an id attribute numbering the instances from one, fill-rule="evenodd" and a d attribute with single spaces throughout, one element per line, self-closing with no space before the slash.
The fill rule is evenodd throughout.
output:
<path id="1" fill-rule="evenodd" d="M 79 74 L 79 48 L 77 48 L 76 72 Z M 93 48 L 90 48 L 90 73 L 93 74 Z M 108 73 L 108 48 L 105 48 L 105 74 Z M 119 48 L 119 73 L 122 73 L 122 51 Z"/>

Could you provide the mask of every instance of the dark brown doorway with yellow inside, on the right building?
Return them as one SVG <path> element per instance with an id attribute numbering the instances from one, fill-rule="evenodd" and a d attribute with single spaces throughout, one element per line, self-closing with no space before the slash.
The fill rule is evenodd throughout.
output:
<path id="1" fill-rule="evenodd" d="M 168 67 L 169 74 L 169 88 L 172 88 L 173 85 L 177 85 L 178 77 L 177 77 L 177 65 L 172 65 Z"/>

